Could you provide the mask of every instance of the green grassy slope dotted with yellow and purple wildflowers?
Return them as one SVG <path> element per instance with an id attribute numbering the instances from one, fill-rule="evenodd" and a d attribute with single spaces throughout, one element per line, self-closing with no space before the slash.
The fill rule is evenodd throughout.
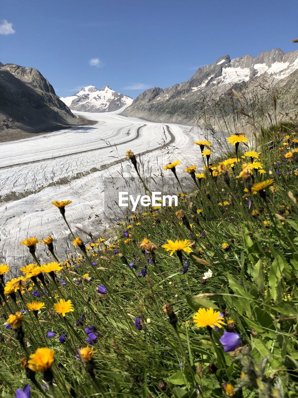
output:
<path id="1" fill-rule="evenodd" d="M 278 139 L 284 142 L 283 138 Z M 288 146 L 277 142 L 273 150 L 262 148 L 265 174 L 255 172 L 255 179 L 273 177 L 271 186 L 277 188 L 274 192 L 265 189 L 266 201 L 258 194 L 245 197 L 242 180 L 235 178 L 241 161 L 229 170 L 229 187 L 222 176 L 215 181 L 207 175 L 201 190 L 180 197 L 178 209 L 184 209 L 192 224 L 192 236 L 177 219 L 177 209 L 151 209 L 120 225 L 119 239 L 113 244 L 86 245 L 88 258 L 96 265 L 83 258 L 66 261 L 58 288 L 49 277 L 48 295 L 41 291 L 39 300 L 45 308 L 39 322 L 31 311 L 24 314 L 28 352 L 23 352 L 12 330 L 2 330 L 2 396 L 14 396 L 15 389 L 28 382 L 19 359 L 37 347 L 50 347 L 55 350 L 52 370 L 57 398 L 71 396 L 69 386 L 77 397 L 181 398 L 197 397 L 199 392 L 205 398 L 221 397 L 227 395 L 222 383 L 234 386 L 231 394 L 235 397 L 296 397 L 298 209 L 288 192 L 297 197 L 297 163 L 284 158 Z M 249 199 L 253 199 L 250 209 Z M 222 201 L 229 204 L 218 205 Z M 191 202 L 203 210 L 197 217 Z M 129 237 L 123 235 L 126 231 Z M 157 246 L 156 265 L 148 263 L 149 256 L 138 244 L 145 237 Z M 190 263 L 187 273 L 182 274 L 176 254 L 169 256 L 161 248 L 167 239 L 192 239 L 192 253 L 184 253 L 183 258 Z M 228 249 L 223 249 L 223 243 Z M 139 273 L 145 265 L 147 276 L 143 277 Z M 213 275 L 203 285 L 201 279 L 208 269 Z M 61 277 L 66 285 L 60 284 Z M 98 293 L 98 285 L 106 287 L 105 295 Z M 31 295 L 35 289 L 40 287 L 28 281 L 24 293 L 17 293 L 17 304 L 9 298 L 3 306 L 3 321 L 10 307 L 25 308 L 25 302 L 35 298 Z M 72 300 L 74 312 L 65 318 L 56 314 L 52 307 L 58 298 Z M 163 312 L 167 303 L 178 318 L 177 329 Z M 234 320 L 234 331 L 241 334 L 244 348 L 224 353 L 219 338 L 228 330 L 226 324 L 211 336 L 207 328 L 196 328 L 192 316 L 201 307 L 221 310 L 225 323 Z M 75 327 L 80 316 L 81 324 Z M 136 317 L 142 319 L 142 330 L 135 328 Z M 76 360 L 77 348 L 87 345 L 87 326 L 97 329 L 95 378 Z M 55 332 L 55 337 L 47 338 L 48 331 Z M 67 334 L 63 344 L 58 341 L 61 334 Z M 60 371 L 59 363 L 63 365 Z M 210 373 L 210 363 L 218 368 L 216 373 Z M 240 377 L 241 372 L 246 376 Z M 43 384 L 42 375 L 36 378 Z M 44 395 L 33 386 L 32 396 Z"/>

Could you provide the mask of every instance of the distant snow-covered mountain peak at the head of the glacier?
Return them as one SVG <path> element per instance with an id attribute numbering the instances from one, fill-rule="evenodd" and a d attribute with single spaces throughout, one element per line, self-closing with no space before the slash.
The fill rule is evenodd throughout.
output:
<path id="1" fill-rule="evenodd" d="M 95 86 L 86 86 L 73 96 L 60 98 L 70 109 L 83 112 L 117 111 L 132 103 L 132 98 L 113 91 L 110 86 L 100 90 Z"/>

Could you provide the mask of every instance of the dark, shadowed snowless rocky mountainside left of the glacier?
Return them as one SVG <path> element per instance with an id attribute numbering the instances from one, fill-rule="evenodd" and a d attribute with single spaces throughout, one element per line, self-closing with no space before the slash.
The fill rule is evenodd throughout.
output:
<path id="1" fill-rule="evenodd" d="M 0 141 L 85 123 L 37 69 L 0 62 Z"/>

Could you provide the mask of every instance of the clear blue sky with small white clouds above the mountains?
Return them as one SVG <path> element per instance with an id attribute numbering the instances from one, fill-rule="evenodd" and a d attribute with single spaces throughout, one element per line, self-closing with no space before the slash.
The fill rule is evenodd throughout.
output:
<path id="1" fill-rule="evenodd" d="M 56 94 L 83 86 L 135 98 L 229 54 L 298 49 L 296 0 L 1 0 L 0 61 L 31 66 Z"/>

